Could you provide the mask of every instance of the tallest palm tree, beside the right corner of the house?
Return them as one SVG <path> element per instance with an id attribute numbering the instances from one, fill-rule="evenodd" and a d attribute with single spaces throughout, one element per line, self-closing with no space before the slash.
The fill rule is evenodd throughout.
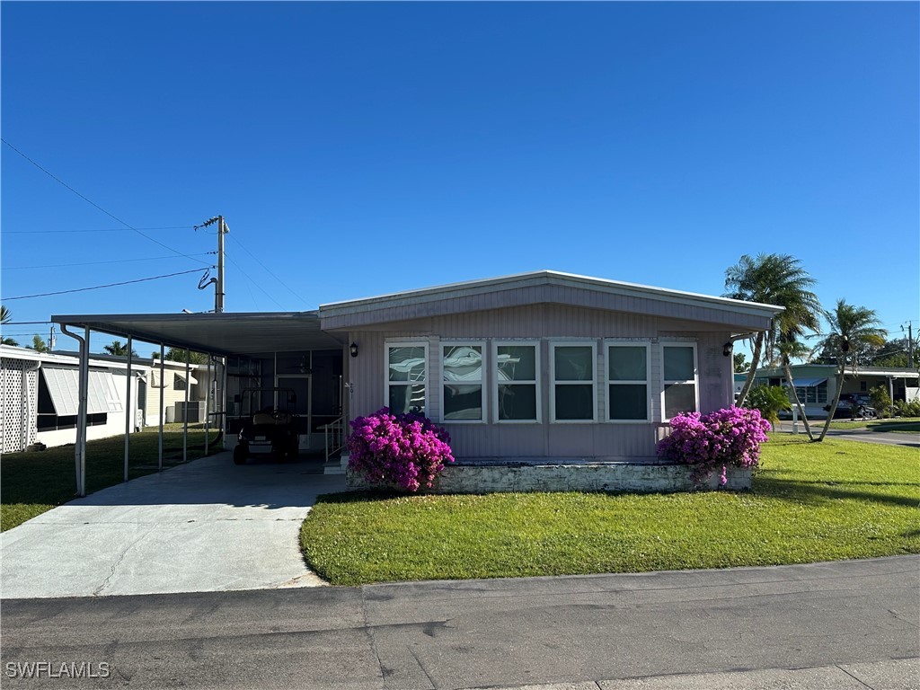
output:
<path id="1" fill-rule="evenodd" d="M 814 283 L 801 267 L 801 261 L 788 254 L 758 254 L 756 259 L 744 254 L 735 266 L 725 271 L 725 289 L 729 291 L 726 297 L 785 307 L 774 318 L 772 328 L 753 339 L 751 368 L 735 402 L 739 407 L 751 390 L 761 357 L 772 357 L 779 334 L 818 328 L 822 308 L 818 295 L 811 292 Z"/>

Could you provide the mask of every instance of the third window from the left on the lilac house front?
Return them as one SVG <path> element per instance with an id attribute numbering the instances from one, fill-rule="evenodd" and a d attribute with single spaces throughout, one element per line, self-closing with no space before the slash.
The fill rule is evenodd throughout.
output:
<path id="1" fill-rule="evenodd" d="M 495 420 L 538 421 L 540 395 L 536 372 L 540 350 L 536 343 L 495 344 L 495 384 L 492 399 Z"/>

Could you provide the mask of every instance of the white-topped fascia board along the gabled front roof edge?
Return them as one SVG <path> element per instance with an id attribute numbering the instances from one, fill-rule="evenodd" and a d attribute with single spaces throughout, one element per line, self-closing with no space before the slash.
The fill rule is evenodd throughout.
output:
<path id="1" fill-rule="evenodd" d="M 319 314 L 320 316 L 347 316 L 350 314 L 374 311 L 375 309 L 419 305 L 446 299 L 469 297 L 482 293 L 500 292 L 502 290 L 540 285 L 581 287 L 596 292 L 628 297 L 659 299 L 673 304 L 705 307 L 718 309 L 720 311 L 729 311 L 735 314 L 766 318 L 772 318 L 783 311 L 783 307 L 780 306 L 763 305 L 757 302 L 744 302 L 742 300 L 730 299 L 729 297 L 687 293 L 679 290 L 640 285 L 632 282 L 609 281 L 573 273 L 543 270 L 532 273 L 518 273 L 481 281 L 455 282 L 420 290 L 410 290 L 405 293 L 390 293 L 377 297 L 333 302 L 327 305 L 319 305 Z"/>

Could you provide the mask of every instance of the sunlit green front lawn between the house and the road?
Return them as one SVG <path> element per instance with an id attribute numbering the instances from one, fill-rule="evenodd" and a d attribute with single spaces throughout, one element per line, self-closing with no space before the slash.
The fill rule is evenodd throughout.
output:
<path id="1" fill-rule="evenodd" d="M 321 497 L 333 584 L 728 568 L 920 553 L 920 455 L 775 435 L 750 492 Z"/>

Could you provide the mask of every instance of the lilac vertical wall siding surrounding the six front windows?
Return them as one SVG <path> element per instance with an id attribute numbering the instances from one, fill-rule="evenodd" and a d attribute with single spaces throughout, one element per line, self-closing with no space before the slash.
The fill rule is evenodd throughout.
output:
<path id="1" fill-rule="evenodd" d="M 502 295 L 507 298 L 509 295 Z M 557 295 L 559 299 L 571 295 Z M 502 299 L 502 301 L 505 301 Z M 451 300 L 453 302 L 453 300 Z M 459 306 L 459 305 L 456 305 Z M 636 305 L 634 308 L 638 308 Z M 457 312 L 400 320 L 379 326 L 349 329 L 348 342 L 356 342 L 359 356 L 351 359 L 351 413 L 365 415 L 385 404 L 385 345 L 387 340 L 418 340 L 428 343 L 427 413 L 440 420 L 441 343 L 455 339 L 477 339 L 487 343 L 496 339 L 538 339 L 541 371 L 542 420 L 539 423 L 452 423 L 442 422 L 451 433 L 454 454 L 459 458 L 595 458 L 605 460 L 643 459 L 655 454 L 661 437 L 661 342 L 696 343 L 699 403 L 702 411 L 725 407 L 732 399 L 731 358 L 722 354 L 731 328 L 720 324 L 687 320 L 680 316 L 680 305 L 673 316 L 624 313 L 583 306 L 530 304 L 478 312 Z M 696 316 L 696 315 L 695 315 Z M 328 328 L 324 324 L 324 328 Z M 572 423 L 549 421 L 549 343 L 553 340 L 592 339 L 597 348 L 595 397 L 598 419 L 606 419 L 604 408 L 604 339 L 644 339 L 651 342 L 650 398 L 651 420 L 638 423 Z M 487 419 L 491 419 L 494 385 L 487 355 Z"/>

